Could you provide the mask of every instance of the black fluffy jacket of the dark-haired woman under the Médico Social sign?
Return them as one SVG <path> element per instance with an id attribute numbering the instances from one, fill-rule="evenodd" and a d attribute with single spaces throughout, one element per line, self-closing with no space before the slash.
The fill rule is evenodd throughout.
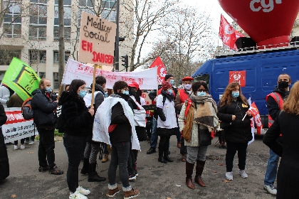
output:
<path id="1" fill-rule="evenodd" d="M 63 131 L 66 134 L 72 136 L 93 134 L 93 117 L 88 112 L 82 98 L 70 94 L 70 92 L 63 92 L 59 98 L 59 105 L 62 105 L 59 119 L 63 121 Z"/>

